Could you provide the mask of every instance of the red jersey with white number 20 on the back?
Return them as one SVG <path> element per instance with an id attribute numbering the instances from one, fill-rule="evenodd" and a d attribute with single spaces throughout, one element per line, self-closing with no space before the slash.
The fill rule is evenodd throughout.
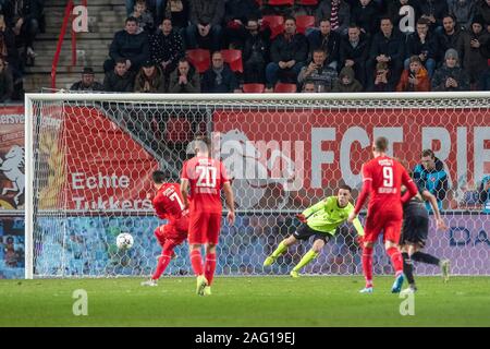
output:
<path id="1" fill-rule="evenodd" d="M 193 157 L 184 163 L 181 179 L 189 181 L 189 210 L 221 214 L 221 188 L 229 182 L 226 170 L 220 160 Z"/>

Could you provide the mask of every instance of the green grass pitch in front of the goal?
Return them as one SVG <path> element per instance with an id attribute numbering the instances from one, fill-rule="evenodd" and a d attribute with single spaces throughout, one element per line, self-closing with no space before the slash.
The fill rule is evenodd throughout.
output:
<path id="1" fill-rule="evenodd" d="M 389 292 L 393 278 L 217 277 L 211 297 L 194 278 L 0 281 L 0 326 L 490 326 L 490 277 L 419 277 L 415 315 Z M 88 293 L 88 315 L 72 313 L 73 291 Z"/>

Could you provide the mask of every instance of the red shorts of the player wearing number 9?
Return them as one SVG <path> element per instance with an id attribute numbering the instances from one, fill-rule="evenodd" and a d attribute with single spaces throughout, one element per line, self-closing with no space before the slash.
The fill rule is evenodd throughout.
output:
<path id="1" fill-rule="evenodd" d="M 363 241 L 375 243 L 381 231 L 383 231 L 383 242 L 388 240 L 399 243 L 402 222 L 403 216 L 399 214 L 368 215 L 366 218 L 366 227 L 364 228 Z"/>

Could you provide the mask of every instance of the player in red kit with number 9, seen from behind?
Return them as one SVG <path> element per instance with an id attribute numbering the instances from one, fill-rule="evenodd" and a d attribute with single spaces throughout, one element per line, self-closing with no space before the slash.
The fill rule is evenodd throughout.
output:
<path id="1" fill-rule="evenodd" d="M 372 145 L 375 158 L 363 165 L 363 190 L 354 212 L 347 219 L 352 222 L 357 217 L 370 194 L 363 239 L 363 272 L 366 278 L 366 287 L 360 290 L 363 293 L 372 292 L 372 249 L 381 230 L 384 249 L 395 269 L 395 281 L 391 291 L 400 292 L 404 280 L 403 257 L 397 245 L 403 221 L 403 204 L 417 194 L 417 186 L 402 164 L 385 155 L 387 149 L 388 140 L 378 137 Z M 408 189 L 403 197 L 402 183 Z"/>

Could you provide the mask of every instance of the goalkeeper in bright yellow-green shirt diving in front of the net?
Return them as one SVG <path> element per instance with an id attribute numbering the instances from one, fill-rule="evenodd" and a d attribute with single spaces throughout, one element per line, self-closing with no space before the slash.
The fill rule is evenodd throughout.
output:
<path id="1" fill-rule="evenodd" d="M 309 250 L 299 261 L 299 263 L 290 273 L 292 277 L 298 277 L 299 270 L 315 260 L 321 249 L 335 234 L 336 228 L 347 220 L 348 214 L 354 210 L 354 206 L 350 203 L 351 186 L 341 185 L 336 196 L 329 196 L 306 208 L 296 217 L 303 224 L 291 237 L 279 243 L 278 248 L 264 262 L 264 266 L 270 266 L 275 260 L 287 251 L 289 246 L 295 244 L 298 240 L 308 240 L 315 237 L 311 250 Z M 363 237 L 364 229 L 358 218 L 353 221 L 357 233 Z"/>

